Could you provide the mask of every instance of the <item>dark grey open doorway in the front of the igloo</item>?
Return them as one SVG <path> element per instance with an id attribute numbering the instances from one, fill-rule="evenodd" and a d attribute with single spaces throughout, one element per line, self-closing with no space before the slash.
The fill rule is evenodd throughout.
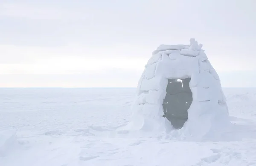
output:
<path id="1" fill-rule="evenodd" d="M 188 109 L 193 101 L 192 91 L 189 88 L 191 78 L 168 79 L 166 97 L 163 100 L 164 117 L 176 129 L 183 127 L 188 120 Z"/>

